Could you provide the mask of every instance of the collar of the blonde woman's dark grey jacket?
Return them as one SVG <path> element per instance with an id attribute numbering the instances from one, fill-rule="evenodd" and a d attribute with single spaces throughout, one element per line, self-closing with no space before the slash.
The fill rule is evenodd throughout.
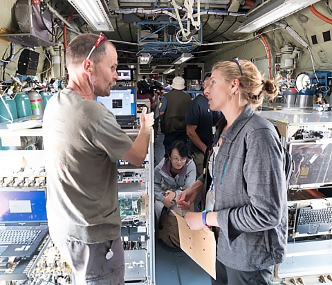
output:
<path id="1" fill-rule="evenodd" d="M 226 129 L 226 131 L 223 133 L 223 138 L 225 140 L 232 142 L 237 137 L 237 134 L 239 134 L 239 131 L 241 131 L 241 129 L 246 125 L 248 120 L 250 120 L 250 118 L 253 115 L 254 115 L 254 111 L 252 111 L 252 108 L 250 107 L 250 105 L 247 105 L 243 109 L 243 111 L 240 113 L 240 115 L 234 120 L 232 125 L 228 129 Z M 226 120 L 225 120 L 225 117 L 223 116 L 217 123 L 217 126 L 218 126 L 217 134 L 216 134 L 217 138 L 219 138 L 219 136 L 221 134 L 221 130 L 223 129 L 225 124 L 226 124 Z"/>

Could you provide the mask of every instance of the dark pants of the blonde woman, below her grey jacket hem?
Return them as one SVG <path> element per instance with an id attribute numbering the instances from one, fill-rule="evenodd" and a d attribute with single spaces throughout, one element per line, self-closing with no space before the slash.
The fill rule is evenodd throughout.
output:
<path id="1" fill-rule="evenodd" d="M 212 285 L 268 285 L 272 277 L 273 266 L 258 271 L 240 271 L 216 261 L 216 280 L 211 278 Z"/>

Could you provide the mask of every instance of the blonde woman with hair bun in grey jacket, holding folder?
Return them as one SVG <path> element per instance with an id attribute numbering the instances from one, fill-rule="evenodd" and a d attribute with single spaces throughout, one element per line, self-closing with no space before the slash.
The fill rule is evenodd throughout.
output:
<path id="1" fill-rule="evenodd" d="M 213 227 L 218 285 L 268 284 L 286 256 L 287 199 L 283 149 L 275 127 L 254 110 L 277 86 L 237 57 L 218 62 L 206 90 L 210 109 L 220 110 L 205 177 L 178 195 L 181 209 L 204 191 L 203 212 L 185 215 L 192 230 Z"/>

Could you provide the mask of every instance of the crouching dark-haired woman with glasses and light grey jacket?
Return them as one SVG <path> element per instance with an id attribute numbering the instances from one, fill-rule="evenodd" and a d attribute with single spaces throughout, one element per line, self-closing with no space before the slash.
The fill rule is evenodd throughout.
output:
<path id="1" fill-rule="evenodd" d="M 182 140 L 176 140 L 169 147 L 168 154 L 154 169 L 155 212 L 158 221 L 158 237 L 168 246 L 180 246 L 178 223 L 170 212 L 174 210 L 184 215 L 187 210 L 180 210 L 175 205 L 176 195 L 181 193 L 196 180 L 196 166 L 188 158 L 188 150 Z"/>

